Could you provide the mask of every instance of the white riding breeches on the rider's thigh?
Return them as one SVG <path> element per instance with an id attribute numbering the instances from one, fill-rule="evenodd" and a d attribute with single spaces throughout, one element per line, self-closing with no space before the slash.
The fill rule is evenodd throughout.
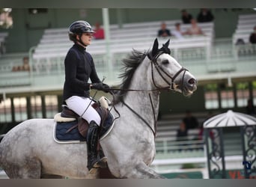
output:
<path id="1" fill-rule="evenodd" d="M 94 103 L 94 101 L 91 101 L 90 98 L 83 96 L 70 96 L 70 98 L 66 99 L 65 102 L 67 103 L 68 108 L 75 111 L 76 114 L 79 114 L 79 116 L 82 116 L 82 118 L 87 120 L 88 123 L 90 123 L 91 120 L 94 120 L 97 123 L 97 125 L 100 126 L 100 115 L 91 106 Z M 87 110 L 85 111 L 86 108 Z"/>

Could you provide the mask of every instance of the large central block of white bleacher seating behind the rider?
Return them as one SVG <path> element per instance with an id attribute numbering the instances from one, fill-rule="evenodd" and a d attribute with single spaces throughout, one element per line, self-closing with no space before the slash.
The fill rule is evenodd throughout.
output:
<path id="1" fill-rule="evenodd" d="M 180 20 L 165 21 L 168 28 L 174 29 L 175 22 Z M 132 49 L 144 51 L 150 49 L 153 40 L 156 38 L 157 30 L 161 22 L 137 22 L 126 23 L 122 28 L 118 25 L 110 25 L 110 43 L 109 49 L 112 55 L 127 53 Z M 210 56 L 210 46 L 214 38 L 214 25 L 213 22 L 200 23 L 205 36 L 192 36 L 185 37 L 184 40 L 177 40 L 171 37 L 171 49 L 174 50 L 174 56 L 177 58 L 178 50 L 189 48 L 204 48 L 207 57 Z M 183 29 L 188 28 L 190 25 L 182 25 Z M 159 38 L 159 43 L 163 43 L 168 38 Z M 106 40 L 94 40 L 94 45 L 88 46 L 88 51 L 92 55 L 105 55 L 106 54 Z M 67 54 L 67 50 L 72 46 L 72 43 L 67 37 L 67 28 L 51 28 L 46 29 L 34 50 L 33 58 L 40 64 L 43 58 L 59 58 Z"/>

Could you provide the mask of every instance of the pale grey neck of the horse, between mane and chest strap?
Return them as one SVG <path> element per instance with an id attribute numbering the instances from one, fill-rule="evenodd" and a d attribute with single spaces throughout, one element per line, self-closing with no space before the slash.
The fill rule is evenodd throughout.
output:
<path id="1" fill-rule="evenodd" d="M 159 91 L 150 91 L 155 89 L 149 73 L 150 63 L 143 63 L 135 71 L 129 86 L 129 89 L 140 91 L 128 91 L 124 102 L 153 125 L 159 111 Z"/>

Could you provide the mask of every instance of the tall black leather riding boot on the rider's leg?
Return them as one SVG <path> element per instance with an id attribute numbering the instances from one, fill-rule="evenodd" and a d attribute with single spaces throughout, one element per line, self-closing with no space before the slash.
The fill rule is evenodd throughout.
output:
<path id="1" fill-rule="evenodd" d="M 91 121 L 87 134 L 87 154 L 88 154 L 88 165 L 87 168 L 91 171 L 91 168 L 100 167 L 97 165 L 99 162 L 97 145 L 98 145 L 98 136 L 99 136 L 99 126 L 95 123 L 94 120 Z"/>

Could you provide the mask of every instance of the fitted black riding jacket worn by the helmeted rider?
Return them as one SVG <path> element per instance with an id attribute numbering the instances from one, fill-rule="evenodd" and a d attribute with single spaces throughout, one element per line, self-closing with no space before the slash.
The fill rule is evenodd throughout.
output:
<path id="1" fill-rule="evenodd" d="M 79 44 L 74 44 L 67 52 L 65 64 L 65 82 L 63 90 L 63 101 L 70 96 L 89 97 L 90 83 L 100 82 L 97 76 L 94 60 L 85 51 L 86 48 Z"/>

